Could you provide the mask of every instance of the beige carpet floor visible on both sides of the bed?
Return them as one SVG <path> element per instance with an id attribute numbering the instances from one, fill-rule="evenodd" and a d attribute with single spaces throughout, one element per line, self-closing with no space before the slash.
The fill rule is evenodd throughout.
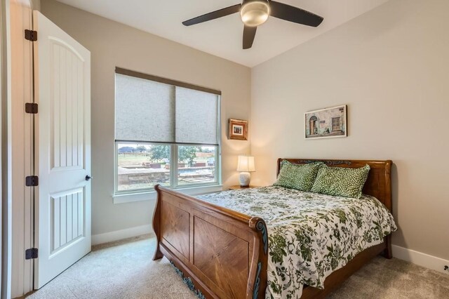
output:
<path id="1" fill-rule="evenodd" d="M 155 246 L 149 236 L 95 246 L 26 298 L 196 298 L 166 258 L 152 260 Z M 449 275 L 379 257 L 328 298 L 449 298 Z"/>

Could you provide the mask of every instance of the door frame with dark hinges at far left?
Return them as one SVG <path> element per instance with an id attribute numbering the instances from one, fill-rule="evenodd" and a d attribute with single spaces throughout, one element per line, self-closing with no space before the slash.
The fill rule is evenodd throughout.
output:
<path id="1" fill-rule="evenodd" d="M 34 174 L 33 114 L 25 113 L 25 102 L 34 102 L 33 53 L 32 42 L 24 38 L 24 30 L 32 29 L 32 0 L 4 0 L 1 4 L 6 15 L 7 68 L 2 156 L 6 168 L 2 194 L 2 298 L 15 298 L 32 291 L 34 282 L 34 262 L 25 260 L 25 250 L 34 247 L 34 187 L 25 186 L 25 177 Z"/>

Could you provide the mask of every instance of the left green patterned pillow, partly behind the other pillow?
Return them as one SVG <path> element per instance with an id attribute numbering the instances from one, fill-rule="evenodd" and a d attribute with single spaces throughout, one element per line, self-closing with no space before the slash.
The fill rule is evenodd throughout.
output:
<path id="1" fill-rule="evenodd" d="M 310 191 L 321 165 L 323 165 L 322 162 L 299 165 L 283 160 L 278 179 L 273 185 L 300 191 Z"/>

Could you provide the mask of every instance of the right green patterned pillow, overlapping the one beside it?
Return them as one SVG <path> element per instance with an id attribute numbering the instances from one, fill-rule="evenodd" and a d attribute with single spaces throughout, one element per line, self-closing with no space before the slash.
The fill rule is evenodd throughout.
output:
<path id="1" fill-rule="evenodd" d="M 323 165 L 316 175 L 311 192 L 334 195 L 337 197 L 360 198 L 370 166 L 361 168 L 328 167 Z"/>

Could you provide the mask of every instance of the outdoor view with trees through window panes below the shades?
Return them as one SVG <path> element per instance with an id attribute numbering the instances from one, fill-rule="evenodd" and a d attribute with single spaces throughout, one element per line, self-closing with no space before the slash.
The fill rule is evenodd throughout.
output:
<path id="1" fill-rule="evenodd" d="M 172 166 L 172 150 L 177 161 Z M 216 182 L 215 146 L 117 144 L 118 191 Z M 170 183 L 175 171 L 176 182 Z"/>

